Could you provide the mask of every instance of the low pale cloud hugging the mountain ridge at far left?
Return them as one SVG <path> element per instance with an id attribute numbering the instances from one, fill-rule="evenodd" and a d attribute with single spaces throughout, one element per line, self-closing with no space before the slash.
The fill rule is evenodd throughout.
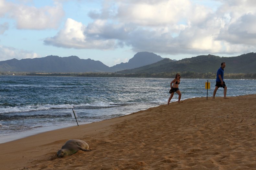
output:
<path id="1" fill-rule="evenodd" d="M 39 58 L 40 55 L 26 50 L 20 50 L 13 47 L 0 45 L 0 61 L 5 61 L 10 58 L 23 59 L 23 58 Z"/>

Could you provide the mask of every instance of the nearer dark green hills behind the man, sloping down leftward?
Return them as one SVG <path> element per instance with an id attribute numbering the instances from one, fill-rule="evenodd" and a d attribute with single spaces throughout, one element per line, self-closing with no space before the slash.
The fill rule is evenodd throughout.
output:
<path id="1" fill-rule="evenodd" d="M 192 58 L 184 58 L 179 61 L 165 58 L 150 65 L 122 70 L 117 73 L 215 73 L 222 62 L 226 63 L 225 73 L 256 73 L 256 53 L 248 53 L 236 57 L 219 57 L 210 54 L 199 55 Z"/>

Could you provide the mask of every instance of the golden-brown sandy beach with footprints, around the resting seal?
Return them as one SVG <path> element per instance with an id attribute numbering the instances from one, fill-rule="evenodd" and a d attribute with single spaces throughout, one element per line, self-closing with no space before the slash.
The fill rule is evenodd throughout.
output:
<path id="1" fill-rule="evenodd" d="M 1 170 L 253 170 L 256 95 L 192 98 L 0 144 Z M 69 139 L 90 152 L 58 158 Z"/>

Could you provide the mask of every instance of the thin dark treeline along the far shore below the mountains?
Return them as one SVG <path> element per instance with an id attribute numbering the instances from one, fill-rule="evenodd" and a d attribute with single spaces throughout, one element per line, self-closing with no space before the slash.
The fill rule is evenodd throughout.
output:
<path id="1" fill-rule="evenodd" d="M 176 72 L 171 73 L 21 73 L 21 72 L 0 72 L 0 75 L 36 75 L 36 76 L 80 76 L 80 77 L 138 77 L 138 78 L 175 78 Z M 181 72 L 181 78 L 214 79 L 216 73 Z M 256 73 L 228 73 L 224 79 L 255 79 Z"/>

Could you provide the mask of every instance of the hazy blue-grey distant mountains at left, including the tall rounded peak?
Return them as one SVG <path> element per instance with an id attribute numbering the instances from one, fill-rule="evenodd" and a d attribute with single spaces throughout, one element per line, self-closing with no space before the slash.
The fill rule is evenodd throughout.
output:
<path id="1" fill-rule="evenodd" d="M 162 58 L 149 52 L 139 52 L 127 63 L 121 63 L 109 67 L 100 61 L 91 59 L 80 59 L 77 56 L 59 57 L 49 55 L 33 59 L 11 59 L 0 61 L 0 71 L 8 72 L 116 72 L 124 69 L 132 69 L 144 65 L 156 63 Z"/>

